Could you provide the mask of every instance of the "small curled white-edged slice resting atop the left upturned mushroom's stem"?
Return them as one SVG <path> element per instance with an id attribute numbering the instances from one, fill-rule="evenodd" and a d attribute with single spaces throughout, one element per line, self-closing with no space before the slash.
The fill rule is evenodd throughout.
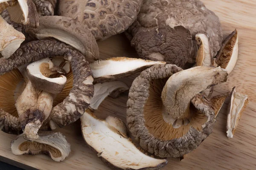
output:
<path id="1" fill-rule="evenodd" d="M 39 91 L 58 94 L 63 90 L 67 82 L 67 78 L 63 75 L 57 78 L 49 78 L 52 74 L 61 72 L 49 58 L 29 64 L 27 66 L 27 72 L 29 80 Z"/>

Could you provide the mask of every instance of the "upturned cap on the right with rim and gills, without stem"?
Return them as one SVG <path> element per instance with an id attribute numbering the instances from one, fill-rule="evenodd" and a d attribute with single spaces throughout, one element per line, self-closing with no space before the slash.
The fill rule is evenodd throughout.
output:
<path id="1" fill-rule="evenodd" d="M 192 99 L 192 117 L 187 125 L 172 127 L 163 119 L 161 93 L 168 78 L 181 68 L 176 65 L 154 65 L 137 77 L 127 102 L 128 128 L 140 146 L 159 157 L 180 157 L 197 148 L 212 132 L 215 113 L 207 97 Z"/>

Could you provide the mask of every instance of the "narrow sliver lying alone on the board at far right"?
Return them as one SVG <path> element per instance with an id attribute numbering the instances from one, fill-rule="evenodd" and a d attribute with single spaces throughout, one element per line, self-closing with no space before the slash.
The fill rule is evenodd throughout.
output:
<path id="1" fill-rule="evenodd" d="M 249 102 L 248 96 L 236 93 L 236 87 L 231 92 L 227 114 L 227 137 L 233 138 L 239 119 Z"/>

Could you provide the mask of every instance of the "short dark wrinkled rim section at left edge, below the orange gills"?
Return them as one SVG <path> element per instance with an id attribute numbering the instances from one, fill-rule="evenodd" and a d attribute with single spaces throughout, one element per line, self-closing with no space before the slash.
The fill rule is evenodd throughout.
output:
<path id="1" fill-rule="evenodd" d="M 11 134 L 20 134 L 20 120 L 0 109 L 0 130 Z"/>

